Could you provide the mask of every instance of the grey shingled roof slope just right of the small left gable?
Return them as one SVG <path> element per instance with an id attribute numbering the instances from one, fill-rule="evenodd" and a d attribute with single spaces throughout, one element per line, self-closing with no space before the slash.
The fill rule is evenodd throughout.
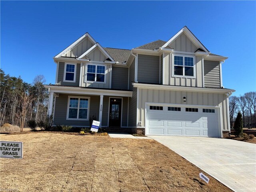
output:
<path id="1" fill-rule="evenodd" d="M 131 53 L 129 49 L 104 48 L 116 62 L 126 62 Z"/>

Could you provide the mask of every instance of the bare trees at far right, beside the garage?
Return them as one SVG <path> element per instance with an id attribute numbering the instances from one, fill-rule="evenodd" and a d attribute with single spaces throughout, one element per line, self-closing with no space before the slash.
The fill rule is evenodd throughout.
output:
<path id="1" fill-rule="evenodd" d="M 243 96 L 230 96 L 229 115 L 230 127 L 236 118 L 238 112 L 241 112 L 243 118 L 243 127 L 256 127 L 256 92 L 248 92 Z"/>

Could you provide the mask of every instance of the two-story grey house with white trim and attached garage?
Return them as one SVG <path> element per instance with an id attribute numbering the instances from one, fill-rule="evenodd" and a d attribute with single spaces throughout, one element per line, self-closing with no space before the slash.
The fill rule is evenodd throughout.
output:
<path id="1" fill-rule="evenodd" d="M 86 33 L 54 57 L 48 114 L 54 125 L 88 127 L 95 115 L 102 127 L 146 135 L 222 137 L 234 92 L 222 86 L 226 59 L 186 26 L 132 50 L 103 48 Z"/>

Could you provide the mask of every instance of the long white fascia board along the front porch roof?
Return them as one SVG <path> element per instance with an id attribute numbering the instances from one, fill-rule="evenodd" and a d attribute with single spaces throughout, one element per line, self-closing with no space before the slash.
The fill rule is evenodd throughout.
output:
<path id="1" fill-rule="evenodd" d="M 106 96 L 123 96 L 132 97 L 132 91 L 119 91 L 119 90 L 99 90 L 99 89 L 82 89 L 80 87 L 56 87 L 44 86 L 49 88 L 50 92 L 66 93 L 66 94 L 89 94 L 89 95 L 106 95 Z"/>

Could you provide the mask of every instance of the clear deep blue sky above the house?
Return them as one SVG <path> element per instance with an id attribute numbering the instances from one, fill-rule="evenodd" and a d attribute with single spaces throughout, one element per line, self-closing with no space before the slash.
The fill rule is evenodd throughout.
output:
<path id="1" fill-rule="evenodd" d="M 169 40 L 183 26 L 214 54 L 228 56 L 223 85 L 256 90 L 255 1 L 1 1 L 1 68 L 31 83 L 55 82 L 52 57 L 89 32 L 103 47 Z"/>

